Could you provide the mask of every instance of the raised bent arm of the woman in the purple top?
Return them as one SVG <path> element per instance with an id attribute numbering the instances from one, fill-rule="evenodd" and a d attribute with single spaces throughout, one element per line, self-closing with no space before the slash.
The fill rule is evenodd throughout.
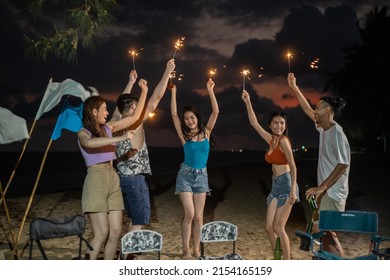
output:
<path id="1" fill-rule="evenodd" d="M 125 129 L 132 124 L 134 124 L 141 117 L 142 110 L 145 106 L 146 95 L 148 93 L 148 83 L 144 79 L 140 79 L 138 82 L 139 87 L 141 88 L 141 95 L 139 97 L 137 107 L 134 110 L 134 114 L 131 116 L 126 116 L 117 121 L 109 121 L 107 123 L 108 127 L 112 132 Z"/>

